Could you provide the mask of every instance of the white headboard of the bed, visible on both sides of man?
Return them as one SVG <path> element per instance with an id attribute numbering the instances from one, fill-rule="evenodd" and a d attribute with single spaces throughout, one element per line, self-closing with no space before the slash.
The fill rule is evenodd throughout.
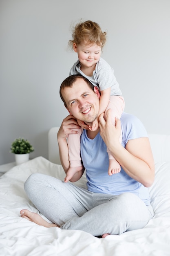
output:
<path id="1" fill-rule="evenodd" d="M 55 164 L 61 164 L 57 142 L 58 130 L 59 127 L 53 127 L 48 135 L 49 161 Z M 149 140 L 155 162 L 170 161 L 170 135 L 149 134 Z"/>

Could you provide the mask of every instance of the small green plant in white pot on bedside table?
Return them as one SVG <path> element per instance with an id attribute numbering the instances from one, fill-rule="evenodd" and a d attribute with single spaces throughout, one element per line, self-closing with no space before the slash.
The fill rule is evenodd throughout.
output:
<path id="1" fill-rule="evenodd" d="M 15 154 L 16 164 L 22 164 L 29 160 L 29 154 L 34 151 L 33 146 L 27 139 L 18 138 L 11 144 L 11 153 Z"/>

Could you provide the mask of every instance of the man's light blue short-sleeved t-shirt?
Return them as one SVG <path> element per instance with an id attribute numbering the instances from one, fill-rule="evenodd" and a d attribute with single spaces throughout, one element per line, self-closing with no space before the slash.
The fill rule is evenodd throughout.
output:
<path id="1" fill-rule="evenodd" d="M 121 115 L 121 129 L 122 146 L 124 148 L 130 139 L 148 137 L 141 121 L 127 113 Z M 106 151 L 106 144 L 99 133 L 94 139 L 89 139 L 86 130 L 83 130 L 80 150 L 83 165 L 86 168 L 89 191 L 113 195 L 131 192 L 139 196 L 146 205 L 150 205 L 148 188 L 129 177 L 123 168 L 117 174 L 108 175 L 108 153 Z"/>

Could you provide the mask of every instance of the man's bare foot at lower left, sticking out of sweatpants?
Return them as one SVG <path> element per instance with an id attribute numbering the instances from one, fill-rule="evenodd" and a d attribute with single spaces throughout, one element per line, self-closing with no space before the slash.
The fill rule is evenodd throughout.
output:
<path id="1" fill-rule="evenodd" d="M 29 211 L 27 209 L 20 211 L 21 217 L 25 218 L 26 220 L 30 220 L 32 222 L 35 222 L 36 224 L 44 227 L 59 227 L 54 223 L 49 223 L 46 220 L 44 220 L 38 213 L 34 213 L 32 211 Z"/>

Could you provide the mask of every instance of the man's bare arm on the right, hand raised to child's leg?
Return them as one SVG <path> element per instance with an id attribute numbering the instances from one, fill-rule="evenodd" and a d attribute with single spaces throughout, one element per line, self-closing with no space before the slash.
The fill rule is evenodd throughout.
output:
<path id="1" fill-rule="evenodd" d="M 120 120 L 116 119 L 116 125 L 111 122 L 110 110 L 104 120 L 104 114 L 99 116 L 100 135 L 108 149 L 119 162 L 124 171 L 134 180 L 146 187 L 154 182 L 155 164 L 147 137 L 131 139 L 124 148 L 119 142 L 121 132 Z"/>

